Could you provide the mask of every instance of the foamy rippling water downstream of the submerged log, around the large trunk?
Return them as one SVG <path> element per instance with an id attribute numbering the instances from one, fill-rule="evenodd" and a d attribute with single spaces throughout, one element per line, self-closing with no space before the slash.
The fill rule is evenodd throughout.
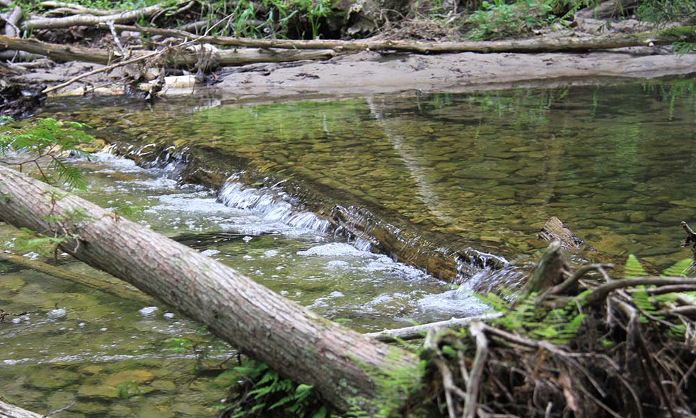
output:
<path id="1" fill-rule="evenodd" d="M 141 206 L 131 216 L 136 222 L 358 330 L 485 309 L 466 291 L 447 290 L 420 270 L 336 240 L 311 222 L 311 214 L 288 217 L 285 204 L 267 202 L 260 190 L 230 183 L 218 196 L 202 187 L 177 187 L 164 170 L 141 169 L 111 155 L 79 164 L 88 183 L 82 194 L 90 201 L 112 209 Z M 8 226 L 0 232 L 15 234 Z M 74 261 L 63 261 L 63 268 L 104 277 Z M 208 366 L 228 359 L 232 348 L 211 343 L 198 325 L 157 302 L 9 270 L 0 274 L 0 305 L 35 311 L 0 324 L 0 379 L 8 386 L 3 396 L 26 408 L 48 412 L 76 399 L 61 415 L 200 417 L 211 416 L 210 408 L 224 396 L 210 387 L 212 376 L 192 380 L 195 356 L 166 350 L 165 340 L 185 337 L 209 347 Z M 127 399 L 119 397 L 124 390 L 131 394 Z"/>

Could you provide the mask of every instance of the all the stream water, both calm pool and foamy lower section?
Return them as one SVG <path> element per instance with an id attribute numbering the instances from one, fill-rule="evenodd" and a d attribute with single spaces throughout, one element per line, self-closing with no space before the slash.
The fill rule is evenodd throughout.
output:
<path id="1" fill-rule="evenodd" d="M 408 228 L 503 260 L 543 248 L 535 235 L 551 216 L 600 258 L 636 254 L 659 271 L 689 256 L 679 222 L 694 213 L 692 79 L 276 104 L 66 99 L 42 116 L 88 123 L 154 167 L 106 153 L 82 160 L 87 199 L 141 206 L 138 222 L 361 331 L 485 307 L 310 210 L 370 210 L 394 235 Z M 186 153 L 222 187 L 177 185 Z M 27 408 L 77 398 L 61 417 L 193 417 L 223 396 L 209 376 L 191 380 L 194 356 L 164 341 L 213 346 L 207 364 L 232 349 L 155 302 L 8 270 L 0 307 L 37 310 L 0 324 L 3 396 Z"/>

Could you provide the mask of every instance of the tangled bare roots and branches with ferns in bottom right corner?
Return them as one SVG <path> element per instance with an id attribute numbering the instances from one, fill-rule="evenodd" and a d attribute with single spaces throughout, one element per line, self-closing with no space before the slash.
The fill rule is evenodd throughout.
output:
<path id="1" fill-rule="evenodd" d="M 491 325 L 431 330 L 424 353 L 446 414 L 693 416 L 696 304 L 681 292 L 696 291 L 696 279 L 612 280 L 606 267 L 547 271 L 555 283 Z"/>

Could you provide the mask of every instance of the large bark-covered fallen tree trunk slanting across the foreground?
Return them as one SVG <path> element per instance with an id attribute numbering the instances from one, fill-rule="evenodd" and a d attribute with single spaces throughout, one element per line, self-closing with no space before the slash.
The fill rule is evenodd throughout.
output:
<path id="1" fill-rule="evenodd" d="M 157 297 L 281 375 L 314 385 L 339 410 L 357 398 L 372 408 L 372 376 L 406 371 L 420 381 L 418 358 L 370 341 L 285 300 L 239 272 L 77 196 L 0 167 L 0 219 L 69 240 L 61 249 Z M 52 196 L 52 197 L 49 197 Z M 84 214 L 72 221 L 75 213 Z M 50 217 L 49 217 L 50 215 Z M 86 216 L 86 218 L 85 218 Z M 405 396 L 405 394 L 394 394 Z"/>

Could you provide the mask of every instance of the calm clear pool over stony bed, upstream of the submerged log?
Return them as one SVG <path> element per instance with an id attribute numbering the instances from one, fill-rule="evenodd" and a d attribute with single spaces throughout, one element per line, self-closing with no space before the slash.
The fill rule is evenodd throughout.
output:
<path id="1" fill-rule="evenodd" d="M 535 235 L 557 216 L 603 254 L 662 267 L 688 256 L 678 242 L 693 217 L 694 92 L 683 79 L 47 114 L 117 142 L 189 147 L 230 173 L 292 178 L 329 208 L 367 207 L 507 258 L 543 247 Z"/>

